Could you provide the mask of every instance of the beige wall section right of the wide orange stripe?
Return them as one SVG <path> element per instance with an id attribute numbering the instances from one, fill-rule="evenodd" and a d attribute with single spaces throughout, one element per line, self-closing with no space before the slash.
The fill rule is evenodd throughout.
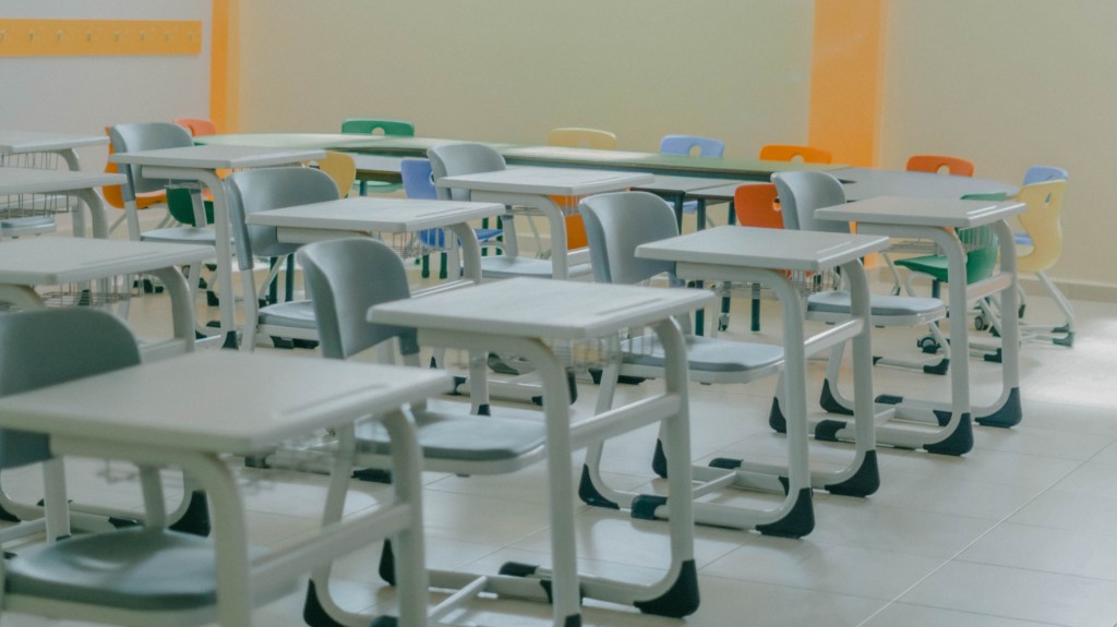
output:
<path id="1" fill-rule="evenodd" d="M 1066 249 L 1049 274 L 1117 283 L 1115 25 L 1111 0 L 891 0 L 881 165 L 942 152 L 1003 181 L 1067 168 Z"/>

